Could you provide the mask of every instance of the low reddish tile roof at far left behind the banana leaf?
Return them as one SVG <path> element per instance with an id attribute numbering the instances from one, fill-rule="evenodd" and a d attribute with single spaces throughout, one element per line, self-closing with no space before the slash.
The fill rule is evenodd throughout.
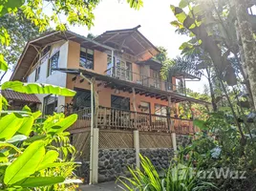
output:
<path id="1" fill-rule="evenodd" d="M 2 90 L 1 94 L 4 97 L 6 97 L 8 100 L 41 103 L 41 101 L 35 95 L 27 95 L 27 94 L 23 94 L 23 93 L 17 93 L 12 90 Z"/>

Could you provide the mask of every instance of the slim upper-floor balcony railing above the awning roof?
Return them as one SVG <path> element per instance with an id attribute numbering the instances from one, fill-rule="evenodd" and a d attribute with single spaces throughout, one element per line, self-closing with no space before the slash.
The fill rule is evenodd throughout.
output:
<path id="1" fill-rule="evenodd" d="M 106 71 L 106 74 L 117 79 L 131 81 L 142 86 L 156 88 L 167 92 L 176 92 L 185 95 L 185 88 L 179 85 L 172 84 L 168 81 L 163 81 L 160 78 L 153 78 L 151 76 L 133 73 L 119 67 L 112 67 Z"/>

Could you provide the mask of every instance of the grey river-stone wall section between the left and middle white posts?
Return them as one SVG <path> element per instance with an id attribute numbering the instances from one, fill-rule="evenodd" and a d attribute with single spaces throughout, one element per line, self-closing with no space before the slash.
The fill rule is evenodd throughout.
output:
<path id="1" fill-rule="evenodd" d="M 129 176 L 127 166 L 136 165 L 135 149 L 99 149 L 98 182 Z"/>

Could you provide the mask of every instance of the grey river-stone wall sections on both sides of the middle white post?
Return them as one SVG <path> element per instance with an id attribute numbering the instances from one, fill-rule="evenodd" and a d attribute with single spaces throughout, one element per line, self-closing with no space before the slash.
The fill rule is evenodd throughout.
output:
<path id="1" fill-rule="evenodd" d="M 140 154 L 150 159 L 157 171 L 163 172 L 169 167 L 174 151 L 172 148 L 140 149 Z M 99 149 L 98 182 L 129 177 L 127 166 L 136 166 L 135 149 Z"/>

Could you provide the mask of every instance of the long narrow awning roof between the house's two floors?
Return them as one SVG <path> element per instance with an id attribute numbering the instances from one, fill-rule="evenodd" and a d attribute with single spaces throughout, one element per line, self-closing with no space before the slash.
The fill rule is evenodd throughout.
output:
<path id="1" fill-rule="evenodd" d="M 59 68 L 59 69 L 54 69 L 54 70 L 58 71 L 58 72 L 66 73 L 66 74 L 74 74 L 74 75 L 83 74 L 83 75 L 85 75 L 87 77 L 90 77 L 90 78 L 91 77 L 96 77 L 96 80 L 105 82 L 105 85 L 104 85 L 105 87 L 110 87 L 112 89 L 121 90 L 123 92 L 133 93 L 133 88 L 134 88 L 136 94 L 140 95 L 140 96 L 143 96 L 143 95 L 144 96 L 150 96 L 150 97 L 155 97 L 157 99 L 160 98 L 161 100 L 168 100 L 168 97 L 171 97 L 171 101 L 176 102 L 176 103 L 182 102 L 182 101 L 190 101 L 190 102 L 194 102 L 194 103 L 200 103 L 200 104 L 203 104 L 203 105 L 209 105 L 210 104 L 209 102 L 199 100 L 199 99 L 195 99 L 193 97 L 182 96 L 182 95 L 179 95 L 175 92 L 161 91 L 159 89 L 146 87 L 146 86 L 143 86 L 141 84 L 137 84 L 137 83 L 133 83 L 133 82 L 113 78 L 113 77 L 108 76 L 108 75 L 96 74 L 96 73 L 88 71 L 86 69 Z"/>

